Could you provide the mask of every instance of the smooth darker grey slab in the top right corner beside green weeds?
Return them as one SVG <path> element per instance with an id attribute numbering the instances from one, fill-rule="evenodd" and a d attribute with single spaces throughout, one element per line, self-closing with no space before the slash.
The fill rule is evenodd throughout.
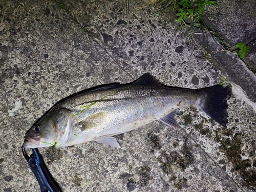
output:
<path id="1" fill-rule="evenodd" d="M 208 6 L 208 24 L 218 30 L 225 47 L 245 42 L 251 47 L 243 61 L 256 71 L 256 1 L 218 1 L 218 7 Z M 227 22 L 228 21 L 228 22 Z"/>

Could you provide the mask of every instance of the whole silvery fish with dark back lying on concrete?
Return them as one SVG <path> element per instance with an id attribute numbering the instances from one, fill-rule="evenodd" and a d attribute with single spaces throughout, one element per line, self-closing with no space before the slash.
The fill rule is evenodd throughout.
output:
<path id="1" fill-rule="evenodd" d="M 111 84 L 65 99 L 25 135 L 25 148 L 59 147 L 89 141 L 120 147 L 114 135 L 159 120 L 177 127 L 179 108 L 194 106 L 226 127 L 231 86 L 201 89 L 164 86 L 149 73 L 127 84 Z"/>

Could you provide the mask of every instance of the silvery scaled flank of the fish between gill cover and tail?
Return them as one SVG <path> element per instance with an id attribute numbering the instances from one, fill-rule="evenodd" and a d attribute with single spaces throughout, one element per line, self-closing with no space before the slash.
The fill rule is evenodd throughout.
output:
<path id="1" fill-rule="evenodd" d="M 98 91 L 95 100 L 92 93 L 86 93 L 61 103 L 59 108 L 66 108 L 73 112 L 76 122 L 98 112 L 106 113 L 102 127 L 91 127 L 83 133 L 77 131 L 76 138 L 83 143 L 86 140 L 94 140 L 105 135 L 112 136 L 136 129 L 153 120 L 172 112 L 174 109 L 187 105 L 195 105 L 199 95 L 191 93 L 191 90 L 176 90 L 172 88 L 152 88 L 148 86 L 127 86 L 114 90 Z M 93 104 L 92 104 L 93 103 Z M 81 110 L 82 106 L 90 107 Z M 79 134 L 78 134 L 79 133 Z M 91 137 L 89 138 L 88 135 Z M 73 144 L 70 142 L 69 144 Z"/>

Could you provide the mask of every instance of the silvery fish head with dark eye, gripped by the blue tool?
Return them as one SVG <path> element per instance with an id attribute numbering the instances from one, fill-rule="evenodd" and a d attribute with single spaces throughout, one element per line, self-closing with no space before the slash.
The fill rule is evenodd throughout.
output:
<path id="1" fill-rule="evenodd" d="M 71 135 L 72 112 L 68 109 L 51 110 L 26 134 L 26 148 L 61 146 Z"/>

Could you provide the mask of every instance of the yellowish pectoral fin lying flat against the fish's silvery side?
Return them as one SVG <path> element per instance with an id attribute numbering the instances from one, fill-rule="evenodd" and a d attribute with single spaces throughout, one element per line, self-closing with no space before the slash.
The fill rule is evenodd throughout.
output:
<path id="1" fill-rule="evenodd" d="M 103 126 L 103 123 L 106 118 L 105 112 L 97 112 L 93 115 L 88 116 L 87 118 L 76 123 L 76 128 L 80 129 L 82 132 L 88 129 L 93 129 L 99 126 Z"/>

